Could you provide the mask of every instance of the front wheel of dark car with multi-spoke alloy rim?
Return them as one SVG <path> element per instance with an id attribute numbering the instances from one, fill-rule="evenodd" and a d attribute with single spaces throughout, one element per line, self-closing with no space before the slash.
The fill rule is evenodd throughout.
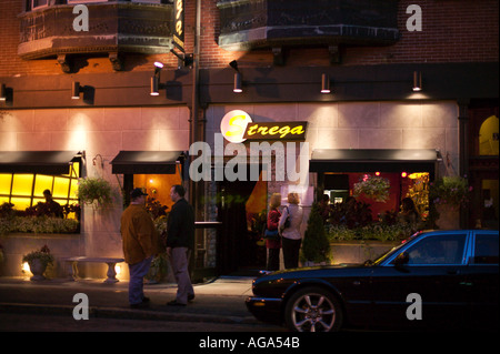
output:
<path id="1" fill-rule="evenodd" d="M 342 309 L 337 297 L 321 287 L 306 287 L 287 302 L 284 321 L 291 331 L 333 332 L 342 325 Z"/>

